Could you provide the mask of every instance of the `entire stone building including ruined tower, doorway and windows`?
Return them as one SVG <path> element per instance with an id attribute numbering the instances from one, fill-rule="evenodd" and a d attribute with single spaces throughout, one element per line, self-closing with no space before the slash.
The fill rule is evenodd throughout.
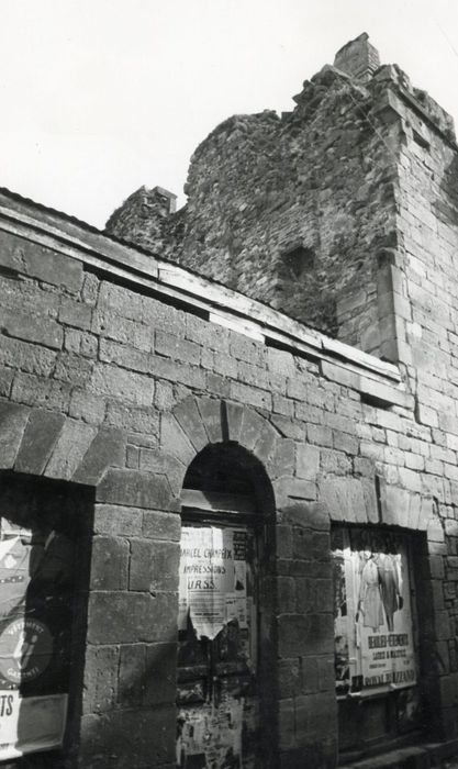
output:
<path id="1" fill-rule="evenodd" d="M 458 753 L 453 127 L 365 35 L 297 103 L 180 212 L 0 194 L 0 760 Z"/>

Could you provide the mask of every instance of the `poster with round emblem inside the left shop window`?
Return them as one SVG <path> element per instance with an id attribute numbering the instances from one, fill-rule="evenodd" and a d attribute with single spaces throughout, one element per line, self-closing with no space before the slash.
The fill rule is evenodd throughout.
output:
<path id="1" fill-rule="evenodd" d="M 72 595 L 71 540 L 0 519 L 0 760 L 62 746 Z"/>

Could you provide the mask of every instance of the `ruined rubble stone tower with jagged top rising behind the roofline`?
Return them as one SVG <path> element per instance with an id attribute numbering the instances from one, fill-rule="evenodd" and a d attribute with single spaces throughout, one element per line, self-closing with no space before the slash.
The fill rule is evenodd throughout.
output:
<path id="1" fill-rule="evenodd" d="M 108 230 L 398 360 L 417 334 L 403 325 L 406 261 L 434 250 L 438 226 L 442 253 L 456 243 L 453 121 L 398 66 L 379 66 L 367 34 L 294 101 L 281 118 L 219 125 L 193 154 L 185 209 L 137 214 L 155 194 L 138 190 Z"/>

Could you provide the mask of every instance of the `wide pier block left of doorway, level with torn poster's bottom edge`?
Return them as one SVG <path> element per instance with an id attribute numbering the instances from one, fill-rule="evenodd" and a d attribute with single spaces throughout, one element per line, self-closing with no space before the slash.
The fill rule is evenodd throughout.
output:
<path id="1" fill-rule="evenodd" d="M 135 644 L 175 638 L 177 612 L 176 593 L 92 592 L 88 642 Z"/>

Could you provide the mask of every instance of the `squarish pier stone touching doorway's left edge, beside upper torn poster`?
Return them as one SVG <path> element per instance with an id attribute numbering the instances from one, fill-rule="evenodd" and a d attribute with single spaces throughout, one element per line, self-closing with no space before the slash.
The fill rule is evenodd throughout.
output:
<path id="1" fill-rule="evenodd" d="M 155 539 L 131 540 L 129 588 L 156 593 L 178 590 L 178 543 Z"/>

